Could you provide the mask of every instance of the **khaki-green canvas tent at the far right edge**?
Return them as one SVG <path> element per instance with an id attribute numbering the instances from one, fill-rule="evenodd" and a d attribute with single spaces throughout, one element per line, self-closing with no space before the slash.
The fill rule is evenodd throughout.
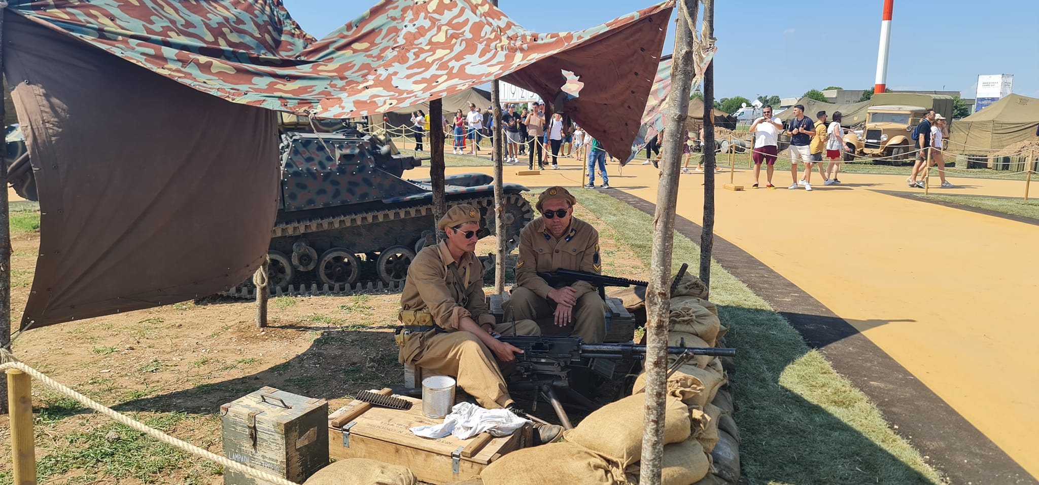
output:
<path id="1" fill-rule="evenodd" d="M 977 153 L 978 149 L 1003 150 L 1013 143 L 1036 139 L 1039 99 L 1010 93 L 963 119 L 949 134 L 947 150 Z"/>

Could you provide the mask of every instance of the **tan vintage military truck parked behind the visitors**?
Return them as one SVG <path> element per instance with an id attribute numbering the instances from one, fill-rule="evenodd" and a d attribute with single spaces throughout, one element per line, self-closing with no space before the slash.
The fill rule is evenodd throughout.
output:
<path id="1" fill-rule="evenodd" d="M 916 95 L 909 92 L 882 92 L 870 100 L 867 110 L 865 128 L 861 133 L 845 135 L 845 161 L 853 160 L 851 154 L 859 157 L 876 158 L 874 163 L 890 163 L 899 166 L 910 162 L 915 153 L 916 142 L 912 132 L 924 118 L 928 108 L 949 119 L 953 114 L 953 98 L 940 95 Z"/>

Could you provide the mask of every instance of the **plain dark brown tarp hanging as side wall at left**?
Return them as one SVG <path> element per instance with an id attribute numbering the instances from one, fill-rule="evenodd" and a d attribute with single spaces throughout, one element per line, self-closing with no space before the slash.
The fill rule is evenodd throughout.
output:
<path id="1" fill-rule="evenodd" d="M 276 212 L 274 112 L 17 15 L 3 54 L 46 195 L 22 328 L 184 301 L 252 274 Z"/>

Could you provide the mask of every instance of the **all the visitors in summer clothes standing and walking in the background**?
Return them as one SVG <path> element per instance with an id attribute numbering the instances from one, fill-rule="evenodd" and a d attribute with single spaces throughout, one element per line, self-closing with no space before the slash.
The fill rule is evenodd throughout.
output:
<path id="1" fill-rule="evenodd" d="M 779 157 L 780 134 L 790 136 L 788 156 L 790 158 L 791 185 L 788 189 L 812 190 L 812 168 L 818 168 L 823 185 L 841 184 L 837 177 L 841 172 L 845 152 L 849 150 L 844 138 L 850 133 L 850 130 L 842 125 L 842 113 L 834 111 L 832 114 L 828 114 L 826 111 L 819 111 L 816 113 L 816 119 L 811 119 L 804 113 L 802 105 L 795 105 L 792 111 L 794 116 L 784 125 L 779 117 L 773 116 L 772 106 L 765 105 L 762 107 L 762 116 L 751 124 L 749 131 L 754 139 L 751 151 L 754 183 L 751 187 L 760 188 L 762 165 L 764 165 L 766 170 L 765 188 L 777 188 L 772 183 L 772 177 L 773 166 Z M 445 116 L 445 132 L 454 136 L 454 154 L 480 154 L 480 141 L 484 137 L 492 136 L 494 115 L 491 112 L 491 107 L 484 111 L 471 103 L 468 113 L 459 109 L 450 119 Z M 423 134 L 429 130 L 429 116 L 421 110 L 416 111 L 411 123 L 417 150 L 421 151 Z M 587 165 L 588 180 L 584 185 L 585 188 L 596 187 L 596 174 L 603 179 L 603 185 L 598 187 L 610 188 L 606 168 L 609 155 L 603 149 L 600 140 L 594 139 L 587 131 L 582 130 L 580 126 L 571 123 L 568 118 L 564 119 L 560 113 L 553 113 L 547 119 L 544 103 L 534 102 L 530 104 L 529 108 L 523 108 L 520 111 L 515 105 L 506 105 L 502 113 L 502 131 L 506 141 L 504 163 L 522 164 L 521 157 L 526 155 L 528 169 L 534 169 L 535 159 L 537 168 L 545 169 L 551 156 L 552 168 L 558 170 L 559 157 L 572 157 L 583 160 Z M 642 163 L 643 165 L 649 163 L 655 166 L 659 165 L 660 140 L 663 137 L 664 132 L 661 131 L 646 142 L 646 161 Z M 928 109 L 924 119 L 912 132 L 915 163 L 912 172 L 906 179 L 909 187 L 924 187 L 924 182 L 920 179 L 926 176 L 929 168 L 928 163 L 937 166 L 941 187 L 954 187 L 945 180 L 942 149 L 943 140 L 948 137 L 949 128 L 945 118 L 941 114 L 935 113 L 933 109 Z M 694 152 L 701 151 L 702 140 L 702 128 L 699 130 L 699 137 L 695 140 L 690 137 L 689 130 L 686 130 L 686 139 L 683 143 L 683 173 L 692 173 L 689 166 Z M 465 152 L 467 141 L 469 142 L 469 152 Z M 612 157 L 609 158 L 612 160 Z M 695 171 L 703 171 L 702 160 L 700 157 Z M 799 165 L 803 166 L 803 171 L 799 171 Z M 720 167 L 715 167 L 715 171 L 722 170 Z"/>

